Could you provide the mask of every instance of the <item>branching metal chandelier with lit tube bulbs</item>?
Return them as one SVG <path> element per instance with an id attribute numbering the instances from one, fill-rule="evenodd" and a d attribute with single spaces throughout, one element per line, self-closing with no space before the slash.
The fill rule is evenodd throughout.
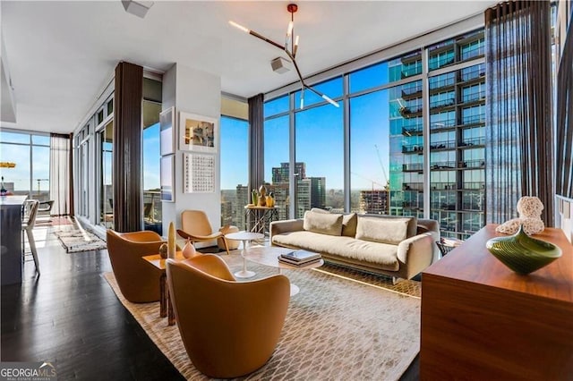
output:
<path id="1" fill-rule="evenodd" d="M 270 38 L 266 38 L 254 30 L 250 30 L 248 28 L 245 28 L 243 25 L 240 25 L 240 24 L 236 23 L 235 21 L 229 21 L 229 24 L 233 25 L 235 28 L 237 28 L 239 30 L 243 30 L 244 32 L 249 33 L 251 36 L 254 36 L 256 38 L 261 38 L 266 43 L 269 43 L 270 45 L 272 45 L 274 47 L 278 47 L 280 50 L 283 50 L 286 53 L 286 55 L 288 55 L 288 58 L 290 59 L 290 61 L 295 66 L 296 74 L 298 75 L 298 79 L 301 82 L 301 109 L 304 108 L 304 90 L 305 89 L 311 90 L 317 96 L 328 101 L 332 106 L 338 107 L 338 103 L 335 102 L 334 100 L 332 100 L 332 98 L 330 98 L 329 96 L 327 96 L 324 93 L 321 93 L 321 91 L 319 91 L 317 89 L 313 89 L 311 86 L 307 85 L 304 82 L 303 74 L 301 74 L 301 71 L 298 68 L 298 64 L 296 63 L 295 57 L 296 57 L 296 51 L 298 50 L 299 36 L 296 36 L 296 38 L 295 38 L 295 33 L 294 33 L 294 31 L 295 31 L 295 13 L 297 10 L 298 10 L 298 5 L 296 5 L 296 4 L 286 5 L 286 11 L 288 11 L 290 13 L 290 21 L 288 22 L 288 26 L 286 27 L 285 45 L 280 45 L 278 42 L 275 42 Z"/>

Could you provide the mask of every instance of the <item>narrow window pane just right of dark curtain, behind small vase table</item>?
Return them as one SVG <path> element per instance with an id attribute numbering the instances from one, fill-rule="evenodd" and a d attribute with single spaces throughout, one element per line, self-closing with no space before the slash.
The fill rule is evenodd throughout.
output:
<path id="1" fill-rule="evenodd" d="M 331 106 L 332 107 L 332 106 Z M 291 218 L 288 212 L 289 202 L 289 118 L 284 115 L 265 121 L 265 183 L 267 191 L 275 195 L 275 205 L 278 207 L 278 219 Z"/>

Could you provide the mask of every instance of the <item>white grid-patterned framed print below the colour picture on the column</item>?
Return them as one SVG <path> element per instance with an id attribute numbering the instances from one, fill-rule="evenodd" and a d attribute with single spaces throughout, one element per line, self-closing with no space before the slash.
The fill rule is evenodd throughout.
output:
<path id="1" fill-rule="evenodd" d="M 215 157 L 206 154 L 184 154 L 184 193 L 215 191 Z"/>

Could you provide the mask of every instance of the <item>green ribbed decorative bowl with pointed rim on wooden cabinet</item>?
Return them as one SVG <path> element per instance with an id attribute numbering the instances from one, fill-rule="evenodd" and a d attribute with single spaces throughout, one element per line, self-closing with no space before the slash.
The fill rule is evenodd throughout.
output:
<path id="1" fill-rule="evenodd" d="M 523 231 L 523 225 L 516 234 L 492 238 L 485 246 L 501 263 L 520 275 L 533 273 L 561 256 L 559 247 L 531 238 Z"/>

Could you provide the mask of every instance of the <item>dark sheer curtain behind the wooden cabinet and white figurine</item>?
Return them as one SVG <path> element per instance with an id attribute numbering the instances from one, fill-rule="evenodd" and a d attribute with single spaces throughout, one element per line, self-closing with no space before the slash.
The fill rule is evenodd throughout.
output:
<path id="1" fill-rule="evenodd" d="M 487 222 L 517 216 L 537 196 L 553 225 L 552 61 L 549 1 L 500 3 L 485 12 Z"/>

